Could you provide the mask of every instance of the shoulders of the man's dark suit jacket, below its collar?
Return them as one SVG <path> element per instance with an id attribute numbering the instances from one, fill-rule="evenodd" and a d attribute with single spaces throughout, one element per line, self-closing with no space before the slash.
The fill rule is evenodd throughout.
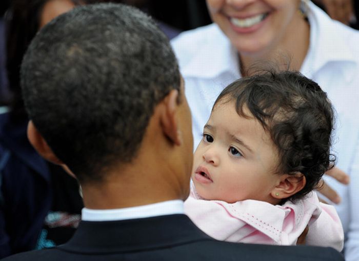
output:
<path id="1" fill-rule="evenodd" d="M 30 251 L 16 254 L 4 261 L 17 260 L 329 260 L 341 261 L 343 256 L 332 248 L 320 247 L 284 247 L 219 242 L 214 239 L 206 239 L 189 242 L 182 245 L 166 247 L 163 249 L 148 249 L 145 251 L 108 252 L 103 254 L 88 255 L 86 253 L 74 253 L 64 251 L 61 248 Z"/>

